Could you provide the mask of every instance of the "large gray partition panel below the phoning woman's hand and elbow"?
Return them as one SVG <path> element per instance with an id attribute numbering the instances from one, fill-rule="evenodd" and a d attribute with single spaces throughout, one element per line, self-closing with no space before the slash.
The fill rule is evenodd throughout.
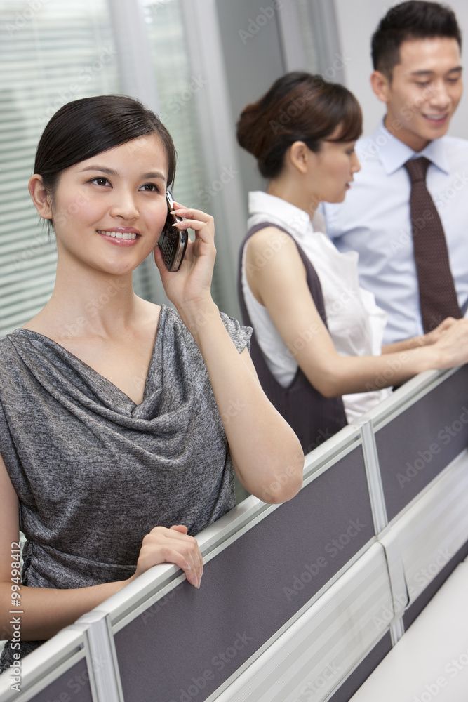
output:
<path id="1" fill-rule="evenodd" d="M 373 535 L 359 446 L 116 633 L 126 702 L 208 697 Z"/>

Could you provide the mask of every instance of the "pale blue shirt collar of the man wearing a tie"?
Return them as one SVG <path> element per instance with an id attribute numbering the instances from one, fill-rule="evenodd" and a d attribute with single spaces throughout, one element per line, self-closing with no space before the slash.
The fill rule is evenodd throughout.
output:
<path id="1" fill-rule="evenodd" d="M 379 158 L 388 176 L 398 171 L 406 161 L 425 156 L 434 166 L 444 173 L 448 173 L 450 165 L 448 163 L 447 150 L 443 145 L 443 137 L 430 141 L 427 147 L 417 152 L 403 144 L 402 141 L 392 135 L 384 126 L 383 120 L 373 133 L 371 140 L 379 147 Z"/>

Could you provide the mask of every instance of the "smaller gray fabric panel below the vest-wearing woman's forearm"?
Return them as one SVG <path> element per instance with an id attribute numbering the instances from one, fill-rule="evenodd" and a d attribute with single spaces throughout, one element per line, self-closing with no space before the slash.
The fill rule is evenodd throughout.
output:
<path id="1" fill-rule="evenodd" d="M 390 519 L 468 445 L 468 366 L 375 435 Z"/>

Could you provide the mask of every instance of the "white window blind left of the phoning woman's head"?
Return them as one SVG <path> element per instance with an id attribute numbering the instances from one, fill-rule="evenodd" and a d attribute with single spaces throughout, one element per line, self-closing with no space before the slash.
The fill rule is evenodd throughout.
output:
<path id="1" fill-rule="evenodd" d="M 27 191 L 39 136 L 65 102 L 118 92 L 105 0 L 0 0 L 0 337 L 55 280 L 54 238 Z"/>

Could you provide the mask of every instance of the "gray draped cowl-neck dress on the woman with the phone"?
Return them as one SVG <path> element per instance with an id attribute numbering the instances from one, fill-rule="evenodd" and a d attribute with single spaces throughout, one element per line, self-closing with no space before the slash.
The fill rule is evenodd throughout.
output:
<path id="1" fill-rule="evenodd" d="M 221 316 L 241 352 L 251 330 Z M 193 535 L 234 507 L 208 371 L 164 305 L 138 405 L 46 336 L 17 329 L 1 339 L 0 453 L 20 501 L 30 587 L 124 580 L 156 525 Z M 40 643 L 23 641 L 22 655 Z M 6 644 L 0 672 L 11 653 Z"/>

